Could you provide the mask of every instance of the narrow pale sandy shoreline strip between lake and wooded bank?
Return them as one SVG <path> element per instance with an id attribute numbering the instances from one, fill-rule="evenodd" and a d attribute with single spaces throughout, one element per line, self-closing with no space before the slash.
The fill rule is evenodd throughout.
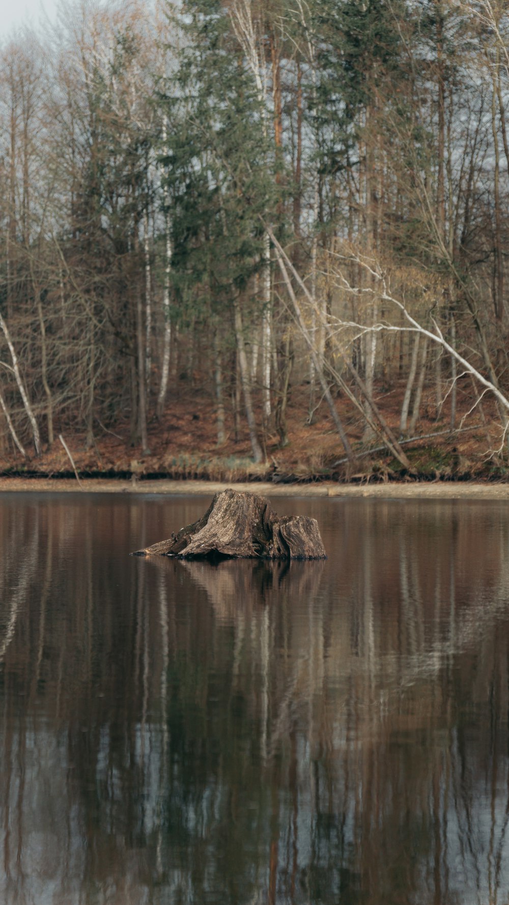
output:
<path id="1" fill-rule="evenodd" d="M 416 481 L 340 484 L 278 484 L 268 481 L 123 481 L 74 478 L 0 478 L 0 493 L 130 493 L 172 496 L 213 496 L 231 487 L 266 497 L 343 497 L 408 500 L 509 500 L 508 483 L 475 481 Z"/>

